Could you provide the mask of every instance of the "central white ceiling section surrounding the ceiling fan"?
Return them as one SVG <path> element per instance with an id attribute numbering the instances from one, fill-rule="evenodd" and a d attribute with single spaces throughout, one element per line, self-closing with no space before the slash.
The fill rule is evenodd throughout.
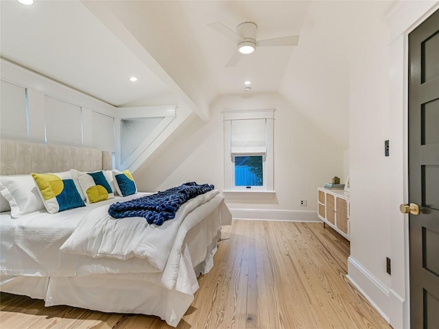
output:
<path id="1" fill-rule="evenodd" d="M 219 94 L 241 93 L 244 81 L 252 91 L 276 92 L 295 47 L 258 47 L 242 56 L 235 67 L 224 67 L 237 50 L 236 43 L 207 25 L 215 21 L 236 30 L 240 23 L 257 24 L 257 40 L 300 34 L 309 1 L 183 1 L 193 38 L 201 46 Z M 300 40 L 299 40 L 300 42 Z M 299 43 L 300 45 L 300 43 Z"/>

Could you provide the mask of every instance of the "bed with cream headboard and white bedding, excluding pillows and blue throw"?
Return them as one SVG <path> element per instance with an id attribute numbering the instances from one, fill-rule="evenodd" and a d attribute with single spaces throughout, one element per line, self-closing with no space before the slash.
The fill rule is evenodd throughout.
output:
<path id="1" fill-rule="evenodd" d="M 106 151 L 0 142 L 4 180 L 70 169 L 106 173 L 112 167 Z M 177 326 L 198 289 L 197 276 L 213 267 L 221 226 L 230 225 L 231 215 L 213 189 L 182 204 L 161 226 L 142 217 L 108 218 L 111 204 L 150 194 L 54 214 L 38 209 L 14 218 L 11 211 L 0 212 L 0 291 L 42 299 L 45 306 L 156 315 Z M 10 202 L 1 198 L 1 210 L 7 210 Z"/>

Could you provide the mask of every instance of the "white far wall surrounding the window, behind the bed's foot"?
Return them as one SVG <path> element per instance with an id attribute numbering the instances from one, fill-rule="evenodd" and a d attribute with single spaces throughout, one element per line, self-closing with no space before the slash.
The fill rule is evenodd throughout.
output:
<path id="1" fill-rule="evenodd" d="M 139 189 L 157 191 L 195 181 L 224 188 L 224 110 L 275 108 L 274 112 L 274 190 L 276 195 L 240 197 L 226 201 L 234 209 L 285 210 L 287 219 L 296 212 L 312 210 L 316 219 L 317 187 L 334 175 L 343 175 L 343 149 L 333 145 L 300 110 L 278 94 L 228 95 L 211 106 L 211 121 L 191 117 L 178 134 L 163 145 L 134 173 Z M 300 207 L 299 199 L 308 206 Z M 278 213 L 278 212 L 276 212 Z"/>

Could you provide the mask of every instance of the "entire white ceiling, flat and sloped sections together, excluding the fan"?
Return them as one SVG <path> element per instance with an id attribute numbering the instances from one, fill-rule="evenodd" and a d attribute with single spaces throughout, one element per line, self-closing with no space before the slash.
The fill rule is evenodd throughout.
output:
<path id="1" fill-rule="evenodd" d="M 251 93 L 280 93 L 347 147 L 349 44 L 361 10 L 383 22 L 395 2 L 0 1 L 0 55 L 113 106 L 184 103 L 203 120 L 250 80 Z M 299 43 L 258 47 L 226 68 L 237 45 L 208 26 L 216 21 L 252 21 L 258 40 Z"/>

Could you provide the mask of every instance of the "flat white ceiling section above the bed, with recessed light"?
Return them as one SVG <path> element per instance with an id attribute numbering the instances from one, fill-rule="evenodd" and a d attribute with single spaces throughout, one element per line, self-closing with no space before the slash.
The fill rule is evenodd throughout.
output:
<path id="1" fill-rule="evenodd" d="M 80 1 L 0 5 L 3 58 L 114 106 L 169 93 Z"/>

